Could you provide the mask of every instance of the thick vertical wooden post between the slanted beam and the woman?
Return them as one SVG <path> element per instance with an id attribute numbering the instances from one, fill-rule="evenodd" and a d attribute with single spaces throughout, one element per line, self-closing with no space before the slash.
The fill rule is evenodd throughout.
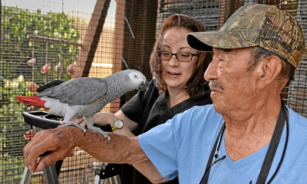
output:
<path id="1" fill-rule="evenodd" d="M 115 21 L 115 48 L 113 73 L 124 70 L 122 56 L 130 69 L 141 71 L 148 81 L 152 79 L 149 67 L 150 53 L 156 36 L 158 1 L 117 0 Z M 125 22 L 125 15 L 135 38 Z M 119 110 L 137 91 L 128 92 L 111 104 L 111 111 Z"/>

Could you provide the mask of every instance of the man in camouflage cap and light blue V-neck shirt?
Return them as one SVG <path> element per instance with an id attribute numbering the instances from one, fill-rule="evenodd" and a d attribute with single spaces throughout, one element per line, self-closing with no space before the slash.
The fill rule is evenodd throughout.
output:
<path id="1" fill-rule="evenodd" d="M 190 33 L 187 41 L 214 52 L 204 75 L 213 105 L 195 106 L 138 137 L 110 134 L 110 144 L 91 131 L 80 138 L 75 127 L 66 128 L 76 137 L 47 130 L 47 138 L 25 147 L 26 166 L 42 169 L 79 146 L 106 162 L 134 164 L 154 183 L 176 176 L 180 183 L 307 183 L 307 119 L 280 97 L 305 54 L 297 21 L 275 6 L 249 4 L 219 31 Z M 47 142 L 53 139 L 64 143 Z M 53 154 L 37 166 L 35 151 Z"/>

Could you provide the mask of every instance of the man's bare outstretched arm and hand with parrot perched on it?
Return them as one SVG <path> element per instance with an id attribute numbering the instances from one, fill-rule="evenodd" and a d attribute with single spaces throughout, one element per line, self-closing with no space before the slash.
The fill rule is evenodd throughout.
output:
<path id="1" fill-rule="evenodd" d="M 128 138 L 113 133 L 109 133 L 109 136 L 111 143 L 108 144 L 108 140 L 104 140 L 100 133 L 87 130 L 87 134 L 83 136 L 83 132 L 73 126 L 40 131 L 24 148 L 25 166 L 32 172 L 36 169 L 42 170 L 57 160 L 63 160 L 78 146 L 96 159 L 107 163 L 147 165 L 146 170 L 151 172 L 147 171 L 150 175 L 146 174 L 146 177 L 152 181 L 164 180 L 140 147 L 137 137 Z M 50 153 L 41 157 L 37 163 L 37 158 L 46 151 Z"/>

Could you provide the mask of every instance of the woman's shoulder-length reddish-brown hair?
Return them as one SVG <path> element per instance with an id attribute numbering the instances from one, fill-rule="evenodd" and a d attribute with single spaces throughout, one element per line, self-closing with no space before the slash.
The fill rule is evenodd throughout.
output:
<path id="1" fill-rule="evenodd" d="M 186 28 L 191 30 L 191 32 L 205 31 L 205 28 L 201 22 L 188 15 L 174 14 L 164 20 L 158 35 L 158 39 L 156 40 L 150 55 L 151 73 L 156 78 L 156 86 L 159 89 L 159 93 L 167 91 L 167 86 L 162 79 L 161 61 L 157 55 L 157 51 L 161 48 L 161 40 L 165 30 L 171 27 Z M 204 72 L 211 62 L 213 54 L 209 52 L 198 52 L 198 54 L 199 56 L 196 66 L 191 78 L 187 82 L 186 87 L 187 93 L 194 99 L 204 97 L 206 94 L 210 93 L 208 84 L 204 79 Z"/>

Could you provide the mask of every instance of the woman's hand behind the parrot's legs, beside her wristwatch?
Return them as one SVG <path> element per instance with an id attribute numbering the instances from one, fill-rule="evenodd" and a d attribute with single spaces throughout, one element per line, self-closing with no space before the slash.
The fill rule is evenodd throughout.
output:
<path id="1" fill-rule="evenodd" d="M 94 125 L 102 126 L 109 124 L 112 126 L 116 119 L 119 118 L 117 118 L 113 113 L 107 113 L 107 112 L 96 113 L 94 114 Z M 86 120 L 84 117 L 83 118 L 73 117 L 72 121 L 74 121 L 76 124 L 86 126 Z M 61 125 L 64 125 L 64 121 L 61 122 Z"/>

